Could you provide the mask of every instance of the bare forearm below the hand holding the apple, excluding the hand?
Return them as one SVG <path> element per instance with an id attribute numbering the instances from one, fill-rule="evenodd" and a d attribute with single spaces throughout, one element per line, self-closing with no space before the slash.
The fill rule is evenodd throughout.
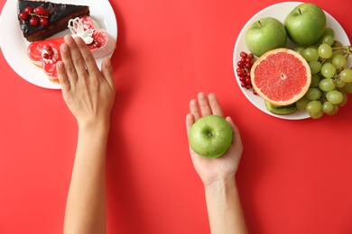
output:
<path id="1" fill-rule="evenodd" d="M 235 178 L 205 186 L 212 234 L 247 233 Z"/>

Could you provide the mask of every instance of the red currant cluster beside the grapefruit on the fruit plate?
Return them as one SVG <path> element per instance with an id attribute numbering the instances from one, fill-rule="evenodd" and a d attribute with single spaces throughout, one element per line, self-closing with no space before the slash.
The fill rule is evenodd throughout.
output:
<path id="1" fill-rule="evenodd" d="M 247 54 L 244 51 L 242 51 L 239 56 L 241 57 L 241 60 L 237 62 L 237 76 L 241 81 L 242 87 L 246 89 L 252 89 L 253 85 L 251 82 L 250 71 L 253 65 L 253 58 L 255 58 L 255 56 L 252 53 Z M 253 94 L 256 94 L 255 90 L 253 90 Z"/>

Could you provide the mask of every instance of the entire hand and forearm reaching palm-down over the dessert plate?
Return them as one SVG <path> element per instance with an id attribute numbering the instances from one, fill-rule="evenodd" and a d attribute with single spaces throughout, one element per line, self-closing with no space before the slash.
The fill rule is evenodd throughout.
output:
<path id="1" fill-rule="evenodd" d="M 60 53 L 57 70 L 62 96 L 79 129 L 64 233 L 106 233 L 107 138 L 116 94 L 113 69 L 105 58 L 100 71 L 80 38 L 66 36 Z"/>

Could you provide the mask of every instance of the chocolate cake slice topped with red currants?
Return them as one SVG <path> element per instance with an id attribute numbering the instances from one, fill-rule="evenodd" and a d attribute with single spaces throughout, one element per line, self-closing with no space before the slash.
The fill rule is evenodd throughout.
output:
<path id="1" fill-rule="evenodd" d="M 28 41 L 44 40 L 68 28 L 70 19 L 89 15 L 88 5 L 18 0 L 18 20 Z"/>

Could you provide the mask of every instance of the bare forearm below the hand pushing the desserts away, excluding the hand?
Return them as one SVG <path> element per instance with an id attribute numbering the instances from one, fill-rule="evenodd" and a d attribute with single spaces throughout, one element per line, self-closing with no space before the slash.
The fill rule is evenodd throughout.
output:
<path id="1" fill-rule="evenodd" d="M 79 126 L 64 233 L 106 233 L 108 128 L 105 122 Z"/>

